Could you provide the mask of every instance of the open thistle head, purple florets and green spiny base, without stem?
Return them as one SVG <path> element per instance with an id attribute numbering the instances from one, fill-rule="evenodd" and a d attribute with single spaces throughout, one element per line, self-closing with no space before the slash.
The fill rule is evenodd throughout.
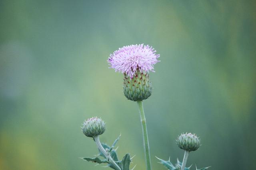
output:
<path id="1" fill-rule="evenodd" d="M 154 48 L 149 45 L 124 46 L 108 58 L 110 68 L 124 73 L 124 95 L 133 101 L 142 101 L 151 96 L 152 86 L 148 77 L 159 62 Z"/>

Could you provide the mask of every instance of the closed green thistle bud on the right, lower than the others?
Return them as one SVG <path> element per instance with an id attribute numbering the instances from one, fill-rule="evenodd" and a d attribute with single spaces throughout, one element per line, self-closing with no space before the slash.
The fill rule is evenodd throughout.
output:
<path id="1" fill-rule="evenodd" d="M 194 151 L 200 147 L 200 140 L 196 136 L 196 134 L 185 133 L 181 134 L 177 139 L 177 145 L 180 149 L 186 151 Z"/>

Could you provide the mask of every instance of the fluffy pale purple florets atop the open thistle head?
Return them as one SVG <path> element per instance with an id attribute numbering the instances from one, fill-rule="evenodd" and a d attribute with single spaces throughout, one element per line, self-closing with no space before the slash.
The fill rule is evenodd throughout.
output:
<path id="1" fill-rule="evenodd" d="M 110 68 L 132 78 L 137 69 L 140 72 L 148 72 L 149 70 L 154 72 L 153 64 L 159 62 L 158 57 L 160 55 L 156 55 L 156 50 L 152 46 L 136 44 L 124 46 L 110 54 L 108 63 L 110 63 Z"/>

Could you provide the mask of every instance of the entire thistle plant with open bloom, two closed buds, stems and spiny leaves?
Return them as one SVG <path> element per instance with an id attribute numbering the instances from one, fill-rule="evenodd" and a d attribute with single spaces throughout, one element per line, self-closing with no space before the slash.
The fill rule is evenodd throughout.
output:
<path id="1" fill-rule="evenodd" d="M 116 72 L 121 72 L 124 75 L 123 90 L 124 96 L 128 100 L 137 102 L 138 110 L 140 113 L 140 121 L 142 125 L 142 139 L 144 146 L 144 155 L 146 162 L 146 170 L 152 170 L 150 160 L 150 147 L 148 142 L 148 132 L 146 125 L 146 117 L 143 108 L 143 100 L 149 98 L 152 94 L 152 83 L 149 79 L 149 71 L 154 72 L 154 64 L 158 63 L 159 54 L 156 54 L 156 50 L 149 45 L 128 45 L 110 54 L 108 63 L 110 68 L 114 68 Z M 99 150 L 99 154 L 93 158 L 82 158 L 87 161 L 96 162 L 98 164 L 105 163 L 108 167 L 115 170 L 130 170 L 130 154 L 125 154 L 122 160 L 118 160 L 116 153 L 117 149 L 114 149 L 116 143 L 120 139 L 120 136 L 114 141 L 110 147 L 107 144 L 100 143 L 99 135 L 102 135 L 105 128 L 105 123 L 97 117 L 92 117 L 83 123 L 82 131 L 87 137 L 91 137 Z M 190 167 L 186 166 L 188 154 L 191 151 L 197 150 L 200 147 L 199 138 L 192 133 L 182 134 L 177 139 L 177 145 L 181 149 L 185 150 L 183 161 L 180 162 L 177 159 L 175 166 L 168 161 L 160 160 L 159 163 L 163 164 L 169 170 L 189 170 Z M 102 156 L 100 159 L 98 156 Z M 135 168 L 135 166 L 134 166 Z M 132 168 L 132 170 L 134 169 Z M 209 167 L 196 170 L 206 170 Z"/>

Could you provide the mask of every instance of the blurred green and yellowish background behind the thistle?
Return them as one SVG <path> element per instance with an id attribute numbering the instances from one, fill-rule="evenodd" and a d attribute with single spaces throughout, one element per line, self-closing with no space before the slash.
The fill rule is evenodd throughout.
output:
<path id="1" fill-rule="evenodd" d="M 255 1 L 0 1 L 0 169 L 102 170 L 79 157 L 97 153 L 80 129 L 106 121 L 102 142 L 145 169 L 135 102 L 107 59 L 145 43 L 160 53 L 144 101 L 154 156 L 183 158 L 175 139 L 197 133 L 188 165 L 256 166 Z M 192 170 L 195 169 L 193 166 Z"/>

